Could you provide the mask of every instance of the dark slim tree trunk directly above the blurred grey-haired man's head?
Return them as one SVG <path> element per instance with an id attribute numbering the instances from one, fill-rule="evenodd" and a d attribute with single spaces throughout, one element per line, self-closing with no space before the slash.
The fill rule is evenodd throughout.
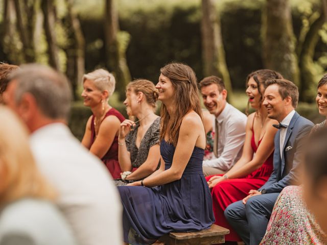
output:
<path id="1" fill-rule="evenodd" d="M 59 70 L 58 46 L 56 39 L 56 15 L 53 0 L 42 0 L 44 32 L 48 42 L 49 64 Z"/>

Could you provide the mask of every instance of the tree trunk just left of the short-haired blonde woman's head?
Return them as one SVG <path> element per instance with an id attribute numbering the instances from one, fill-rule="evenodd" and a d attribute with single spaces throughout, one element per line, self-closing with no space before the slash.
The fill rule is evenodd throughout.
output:
<path id="1" fill-rule="evenodd" d="M 78 84 L 82 81 L 85 72 L 85 39 L 80 26 L 80 21 L 73 10 L 73 0 L 66 0 L 67 6 L 67 36 L 70 45 L 66 48 L 67 69 L 66 74 L 72 83 L 74 100 L 78 99 L 76 94 Z"/>

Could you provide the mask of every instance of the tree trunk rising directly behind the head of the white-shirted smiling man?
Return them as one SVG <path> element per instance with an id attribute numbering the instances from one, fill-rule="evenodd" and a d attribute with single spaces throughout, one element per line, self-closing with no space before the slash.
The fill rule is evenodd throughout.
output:
<path id="1" fill-rule="evenodd" d="M 221 37 L 220 16 L 213 0 L 202 0 L 201 34 L 204 76 L 221 77 L 231 95 L 232 88 Z"/>

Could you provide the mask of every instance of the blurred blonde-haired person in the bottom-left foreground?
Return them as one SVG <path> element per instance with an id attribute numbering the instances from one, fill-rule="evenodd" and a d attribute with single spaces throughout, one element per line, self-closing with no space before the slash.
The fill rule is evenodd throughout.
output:
<path id="1" fill-rule="evenodd" d="M 36 167 L 25 125 L 4 106 L 0 118 L 0 244 L 77 244 Z"/>

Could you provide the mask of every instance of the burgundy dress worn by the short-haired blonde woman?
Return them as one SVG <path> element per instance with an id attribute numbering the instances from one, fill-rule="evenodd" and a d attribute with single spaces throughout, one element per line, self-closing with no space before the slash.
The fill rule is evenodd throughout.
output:
<path id="1" fill-rule="evenodd" d="M 104 116 L 104 118 L 106 118 L 107 116 L 116 116 L 121 122 L 123 122 L 125 120 L 125 117 L 116 109 L 111 108 L 106 115 Z M 96 131 L 94 128 L 94 118 L 95 115 L 92 115 L 92 119 L 91 119 L 91 145 L 93 144 L 93 142 L 96 139 Z M 103 118 L 103 120 L 104 120 Z M 118 179 L 121 178 L 121 167 L 119 165 L 118 162 L 118 136 L 114 136 L 114 139 L 112 141 L 112 144 L 109 148 L 109 150 L 107 151 L 107 153 L 103 156 L 103 158 L 101 158 L 101 160 L 104 162 L 104 164 L 107 166 L 111 176 L 113 179 Z"/>

